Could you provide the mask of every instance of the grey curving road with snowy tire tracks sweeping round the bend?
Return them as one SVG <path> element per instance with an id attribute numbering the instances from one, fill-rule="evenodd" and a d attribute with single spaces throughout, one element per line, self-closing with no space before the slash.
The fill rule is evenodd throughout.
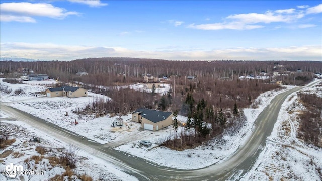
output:
<path id="1" fill-rule="evenodd" d="M 1 109 L 10 117 L 23 120 L 58 140 L 70 143 L 89 154 L 95 154 L 139 180 L 235 180 L 252 168 L 258 155 L 265 147 L 266 138 L 273 130 L 282 103 L 287 96 L 301 88 L 303 87 L 296 87 L 277 95 L 256 119 L 253 132 L 246 144 L 238 148 L 230 158 L 209 167 L 195 170 L 173 169 L 159 166 L 138 157 L 129 157 L 127 153 L 104 147 L 104 145 L 90 139 L 83 139 L 81 135 L 8 105 L 1 104 Z"/>

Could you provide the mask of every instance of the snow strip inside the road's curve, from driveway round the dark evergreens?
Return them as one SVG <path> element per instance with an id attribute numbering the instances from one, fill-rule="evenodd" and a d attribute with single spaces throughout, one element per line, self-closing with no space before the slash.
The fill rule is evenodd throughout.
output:
<path id="1" fill-rule="evenodd" d="M 270 101 L 281 92 L 284 92 L 293 86 L 284 86 L 285 89 L 279 91 L 269 91 L 261 94 L 254 100 L 254 104 L 251 107 L 244 109 L 244 114 L 247 121 L 240 128 L 239 132 L 229 133 L 227 132 L 223 136 L 223 140 L 214 139 L 207 145 L 199 146 L 195 149 L 187 149 L 183 151 L 175 151 L 165 147 L 158 147 L 152 145 L 151 148 L 141 147 L 137 142 L 121 145 L 115 149 L 128 152 L 132 155 L 142 157 L 144 159 L 156 162 L 160 165 L 174 167 L 178 169 L 197 169 L 212 165 L 216 162 L 223 161 L 233 154 L 237 148 L 243 144 L 247 136 L 250 135 L 253 123 L 257 116 L 263 111 L 263 109 L 270 103 Z M 256 105 L 256 106 L 254 106 Z M 179 117 L 179 120 L 186 121 L 187 118 Z M 181 127 L 178 130 L 182 130 Z M 163 137 L 169 137 L 173 135 L 173 129 L 169 129 L 167 134 L 160 135 L 159 137 L 150 138 L 152 142 L 158 142 Z M 180 132 L 179 132 L 180 134 Z M 162 154 L 162 157 L 155 158 L 155 155 Z M 193 160 L 193 161 L 192 161 Z"/>

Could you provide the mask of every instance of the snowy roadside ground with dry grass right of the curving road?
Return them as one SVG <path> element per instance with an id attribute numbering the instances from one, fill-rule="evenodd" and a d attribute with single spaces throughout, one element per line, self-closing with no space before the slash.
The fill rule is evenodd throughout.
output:
<path id="1" fill-rule="evenodd" d="M 321 84 L 303 88 L 301 92 L 322 97 Z M 286 100 L 266 147 L 242 180 L 322 180 L 322 148 L 296 137 L 297 115 L 304 108 L 296 93 Z"/>

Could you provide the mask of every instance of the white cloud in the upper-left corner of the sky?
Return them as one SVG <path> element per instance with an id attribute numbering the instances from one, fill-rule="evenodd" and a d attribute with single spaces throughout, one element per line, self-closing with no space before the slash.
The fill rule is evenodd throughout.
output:
<path id="1" fill-rule="evenodd" d="M 33 16 L 64 19 L 69 15 L 79 15 L 77 12 L 66 11 L 47 3 L 2 3 L 0 4 L 1 21 L 36 22 Z"/>

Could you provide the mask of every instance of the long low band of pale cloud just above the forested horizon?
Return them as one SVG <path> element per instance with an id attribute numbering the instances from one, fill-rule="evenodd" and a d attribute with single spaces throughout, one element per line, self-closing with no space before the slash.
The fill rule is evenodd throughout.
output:
<path id="1" fill-rule="evenodd" d="M 320 61 L 320 45 L 280 48 L 230 48 L 215 50 L 136 51 L 122 47 L 66 46 L 51 43 L 1 43 L 2 57 L 41 60 L 74 60 L 87 57 L 136 57 L 168 60 L 316 60 Z"/>

